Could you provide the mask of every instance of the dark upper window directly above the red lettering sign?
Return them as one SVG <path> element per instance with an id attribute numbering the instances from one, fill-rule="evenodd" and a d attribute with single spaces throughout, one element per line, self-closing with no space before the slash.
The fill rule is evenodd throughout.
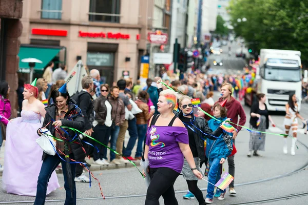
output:
<path id="1" fill-rule="evenodd" d="M 120 0 L 90 0 L 89 20 L 92 22 L 120 22 Z"/>

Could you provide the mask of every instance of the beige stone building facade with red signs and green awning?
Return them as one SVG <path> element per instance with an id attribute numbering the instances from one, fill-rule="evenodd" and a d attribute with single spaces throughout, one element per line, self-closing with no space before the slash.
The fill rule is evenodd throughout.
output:
<path id="1" fill-rule="evenodd" d="M 124 72 L 136 80 L 152 6 L 152 0 L 25 0 L 20 56 L 43 59 L 36 73 L 50 60 L 69 71 L 82 59 L 104 83 Z M 20 72 L 27 69 L 21 62 Z"/>

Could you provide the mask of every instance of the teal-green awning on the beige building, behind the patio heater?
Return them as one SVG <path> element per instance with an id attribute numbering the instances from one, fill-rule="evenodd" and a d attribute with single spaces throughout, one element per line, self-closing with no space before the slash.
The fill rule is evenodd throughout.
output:
<path id="1" fill-rule="evenodd" d="M 23 63 L 24 58 L 36 58 L 41 60 L 42 64 L 35 64 L 34 70 L 42 71 L 47 64 L 59 53 L 60 48 L 35 48 L 35 47 L 23 47 L 21 46 L 18 56 L 20 57 L 20 65 L 18 72 L 29 73 L 29 63 Z"/>

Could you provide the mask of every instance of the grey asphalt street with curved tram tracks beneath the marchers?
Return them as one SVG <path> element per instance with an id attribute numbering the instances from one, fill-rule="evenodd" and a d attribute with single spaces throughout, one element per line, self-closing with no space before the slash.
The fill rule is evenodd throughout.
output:
<path id="1" fill-rule="evenodd" d="M 217 98 L 217 95 L 216 95 Z M 308 109 L 307 105 L 303 106 Z M 244 107 L 246 115 L 249 113 L 249 108 Z M 303 109 L 303 110 L 304 110 Z M 308 118 L 307 112 L 302 112 L 305 118 Z M 271 127 L 268 132 L 282 133 L 283 115 L 272 115 L 277 127 Z M 247 121 L 249 116 L 247 117 Z M 248 126 L 248 122 L 246 122 Z M 305 145 L 308 145 L 308 138 L 303 134 L 303 130 L 299 130 L 298 139 Z M 283 154 L 283 139 L 277 135 L 266 135 L 265 152 L 260 152 L 262 157 L 246 156 L 248 151 L 249 132 L 241 131 L 236 140 L 238 153 L 235 157 L 236 176 L 235 183 L 237 194 L 235 196 L 225 197 L 225 200 L 214 200 L 215 204 L 234 204 L 241 202 L 249 202 L 308 192 L 306 186 L 308 173 L 307 170 L 302 170 L 291 176 L 273 179 L 270 181 L 258 182 L 258 180 L 280 176 L 290 173 L 303 167 L 307 164 L 308 151 L 305 147 L 298 143 L 296 155 Z M 288 139 L 289 152 L 291 146 L 291 138 Z M 203 168 L 204 169 L 204 168 Z M 228 171 L 227 162 L 223 165 L 224 171 Z M 97 177 L 102 185 L 106 199 L 103 200 L 100 196 L 100 190 L 97 181 L 93 180 L 91 188 L 88 183 L 77 183 L 77 204 L 144 204 L 146 187 L 145 182 L 136 168 L 123 168 L 115 170 L 94 171 L 93 174 Z M 63 175 L 58 174 L 60 185 L 64 185 Z M 252 185 L 242 185 L 242 183 L 255 181 Z M 1 182 L 0 182 L 1 183 Z M 199 181 L 199 187 L 206 189 L 207 183 L 203 180 Z M 179 204 L 198 204 L 196 199 L 184 200 L 182 195 L 187 191 L 186 181 L 182 176 L 179 176 L 175 183 L 176 197 Z M 135 196 L 134 195 L 138 195 Z M 206 191 L 203 191 L 206 197 Z M 64 204 L 65 190 L 63 187 L 47 196 L 50 202 L 46 204 Z M 6 194 L 3 190 L 0 191 L 0 204 L 10 202 L 15 204 L 31 204 L 34 197 L 16 196 Z M 29 203 L 24 203 L 29 201 Z M 290 203 L 291 202 L 291 203 Z M 308 197 L 299 197 L 289 200 L 282 200 L 263 204 L 307 204 Z M 161 204 L 163 200 L 161 199 Z"/>

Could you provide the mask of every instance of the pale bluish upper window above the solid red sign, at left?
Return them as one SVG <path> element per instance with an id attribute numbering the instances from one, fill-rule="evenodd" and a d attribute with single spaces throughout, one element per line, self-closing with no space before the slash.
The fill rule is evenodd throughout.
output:
<path id="1" fill-rule="evenodd" d="M 62 0 L 42 0 L 41 18 L 61 19 Z"/>

